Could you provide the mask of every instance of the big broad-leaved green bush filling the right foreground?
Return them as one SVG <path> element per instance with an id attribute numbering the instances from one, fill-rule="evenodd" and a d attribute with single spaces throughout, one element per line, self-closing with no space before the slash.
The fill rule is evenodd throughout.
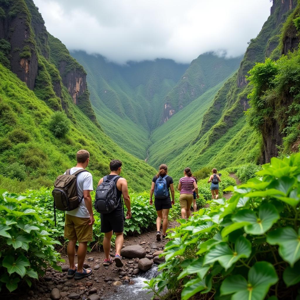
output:
<path id="1" fill-rule="evenodd" d="M 171 229 L 147 286 L 156 298 L 300 297 L 300 153 L 272 158 L 257 175 Z"/>

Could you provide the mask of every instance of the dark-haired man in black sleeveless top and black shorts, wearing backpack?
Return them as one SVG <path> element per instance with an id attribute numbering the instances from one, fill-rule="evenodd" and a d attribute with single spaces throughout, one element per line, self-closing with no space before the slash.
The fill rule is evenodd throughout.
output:
<path id="1" fill-rule="evenodd" d="M 110 265 L 113 262 L 113 259 L 110 257 L 110 246 L 111 238 L 113 233 L 116 234 L 115 248 L 115 263 L 116 267 L 120 268 L 124 264 L 121 258 L 121 249 L 123 246 L 123 229 L 124 229 L 124 203 L 122 201 L 122 195 L 127 207 L 126 219 L 131 218 L 131 207 L 130 207 L 130 196 L 128 194 L 128 185 L 125 178 L 120 176 L 122 169 L 122 162 L 115 159 L 110 162 L 110 175 L 104 176 L 101 178 L 96 192 L 96 200 L 98 199 L 98 193 L 105 193 L 110 187 L 110 184 L 115 183 L 114 187 L 116 188 L 116 208 L 113 211 L 108 213 L 101 213 L 101 232 L 104 232 L 103 240 L 103 249 L 105 254 L 105 259 L 103 265 Z M 99 202 L 100 203 L 100 202 Z M 96 207 L 96 203 L 95 203 Z"/>

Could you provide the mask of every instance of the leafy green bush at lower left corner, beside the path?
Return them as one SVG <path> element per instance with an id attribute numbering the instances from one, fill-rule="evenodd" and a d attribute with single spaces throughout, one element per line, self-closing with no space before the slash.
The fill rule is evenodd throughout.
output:
<path id="1" fill-rule="evenodd" d="M 12 292 L 19 283 L 31 286 L 33 279 L 48 266 L 61 271 L 59 254 L 52 230 L 45 226 L 45 216 L 36 210 L 37 203 L 26 197 L 0 191 L 0 289 Z"/>

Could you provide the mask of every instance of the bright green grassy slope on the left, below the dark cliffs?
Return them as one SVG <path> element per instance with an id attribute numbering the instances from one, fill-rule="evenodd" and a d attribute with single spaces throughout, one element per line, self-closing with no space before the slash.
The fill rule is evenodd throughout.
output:
<path id="1" fill-rule="evenodd" d="M 129 187 L 148 189 L 156 171 L 107 137 L 73 104 L 64 87 L 63 94 L 74 120 L 67 135 L 58 139 L 49 130 L 53 110 L 0 64 L 0 188 L 17 192 L 50 186 L 58 174 L 76 163 L 76 152 L 86 149 L 91 154 L 88 170 L 94 186 L 109 172 L 109 161 L 120 159 Z"/>

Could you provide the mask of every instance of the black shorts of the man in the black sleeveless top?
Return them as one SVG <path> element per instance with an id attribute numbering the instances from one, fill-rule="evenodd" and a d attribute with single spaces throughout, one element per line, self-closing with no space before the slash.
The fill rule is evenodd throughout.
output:
<path id="1" fill-rule="evenodd" d="M 124 230 L 124 212 L 123 208 L 117 207 L 109 214 L 100 214 L 101 219 L 101 232 L 107 233 L 123 232 Z"/>

